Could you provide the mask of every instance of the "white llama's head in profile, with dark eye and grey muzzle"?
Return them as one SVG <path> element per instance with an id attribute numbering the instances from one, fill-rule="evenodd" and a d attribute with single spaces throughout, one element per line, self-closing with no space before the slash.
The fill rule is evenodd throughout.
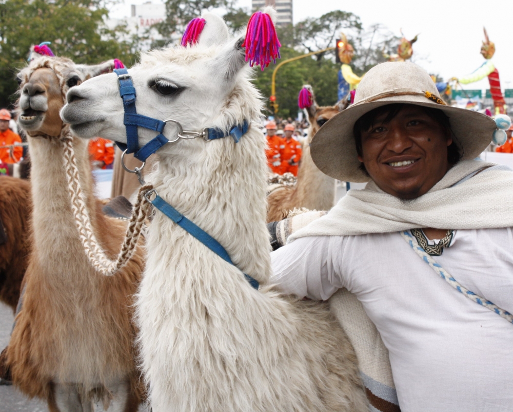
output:
<path id="1" fill-rule="evenodd" d="M 137 114 L 165 121 L 173 119 L 184 130 L 205 127 L 229 130 L 245 120 L 258 118 L 261 98 L 250 82 L 244 36 L 231 38 L 221 17 L 204 13 L 205 26 L 186 46 L 152 50 L 128 70 L 136 93 Z M 184 36 L 185 38 L 185 36 Z M 73 134 L 101 136 L 126 143 L 124 107 L 116 74 L 91 79 L 70 90 L 62 110 Z M 167 123 L 163 134 L 175 140 L 179 129 Z M 156 136 L 139 127 L 139 147 Z M 194 146 L 199 139 L 180 140 L 173 147 Z M 170 145 L 166 147 L 169 148 Z"/>

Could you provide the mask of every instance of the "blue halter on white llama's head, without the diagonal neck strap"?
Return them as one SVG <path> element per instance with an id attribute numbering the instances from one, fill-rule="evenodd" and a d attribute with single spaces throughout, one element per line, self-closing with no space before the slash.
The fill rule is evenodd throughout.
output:
<path id="1" fill-rule="evenodd" d="M 127 131 L 127 144 L 117 143 L 116 144 L 126 153 L 133 153 L 136 159 L 144 162 L 150 155 L 159 150 L 166 143 L 172 143 L 178 139 L 194 139 L 196 137 L 202 137 L 206 141 L 214 139 L 222 139 L 227 136 L 231 136 L 235 143 L 239 140 L 249 129 L 249 122 L 244 121 L 243 124 L 236 125 L 230 129 L 228 135 L 221 129 L 210 127 L 203 129 L 202 132 L 189 132 L 183 130 L 182 126 L 176 120 L 157 120 L 151 117 L 138 115 L 135 109 L 135 87 L 133 87 L 132 78 L 128 74 L 127 69 L 115 69 L 114 73 L 117 74 L 117 82 L 120 86 L 120 95 L 123 99 L 123 107 L 125 109 L 125 117 L 123 124 Z M 175 123 L 179 129 L 178 137 L 175 140 L 168 140 L 163 134 L 166 123 Z M 139 148 L 139 135 L 137 134 L 137 127 L 143 127 L 145 129 L 154 130 L 159 134 L 146 143 L 143 147 Z"/>

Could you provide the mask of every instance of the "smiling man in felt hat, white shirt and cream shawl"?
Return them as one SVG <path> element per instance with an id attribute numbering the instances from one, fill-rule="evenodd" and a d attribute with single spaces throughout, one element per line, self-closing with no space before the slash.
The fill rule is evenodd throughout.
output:
<path id="1" fill-rule="evenodd" d="M 287 293 L 356 295 L 402 412 L 513 410 L 513 171 L 472 160 L 495 129 L 413 63 L 372 68 L 311 143 L 327 175 L 370 182 L 271 254 Z"/>

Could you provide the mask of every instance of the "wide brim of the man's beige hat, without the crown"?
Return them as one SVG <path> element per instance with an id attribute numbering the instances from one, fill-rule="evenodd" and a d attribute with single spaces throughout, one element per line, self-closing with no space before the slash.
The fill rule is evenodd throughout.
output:
<path id="1" fill-rule="evenodd" d="M 370 110 L 392 103 L 415 104 L 442 110 L 449 118 L 453 141 L 461 160 L 473 159 L 488 146 L 497 128 L 494 119 L 467 109 L 444 106 L 422 96 L 390 96 L 378 101 L 354 104 L 328 120 L 315 134 L 310 146 L 312 160 L 326 175 L 348 182 L 370 180 L 360 168 L 354 123 Z"/>

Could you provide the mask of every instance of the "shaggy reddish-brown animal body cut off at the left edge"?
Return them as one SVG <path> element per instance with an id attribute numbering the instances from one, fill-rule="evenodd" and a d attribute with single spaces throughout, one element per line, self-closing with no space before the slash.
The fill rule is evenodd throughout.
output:
<path id="1" fill-rule="evenodd" d="M 0 301 L 14 312 L 30 253 L 30 183 L 0 176 Z"/>

